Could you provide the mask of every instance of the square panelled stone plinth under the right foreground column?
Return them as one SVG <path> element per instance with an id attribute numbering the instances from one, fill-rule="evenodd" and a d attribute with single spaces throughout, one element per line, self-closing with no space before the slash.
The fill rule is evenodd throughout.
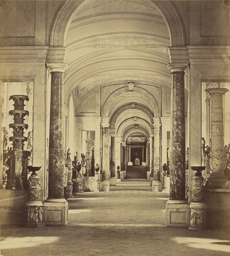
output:
<path id="1" fill-rule="evenodd" d="M 168 200 L 166 202 L 166 227 L 188 227 L 190 208 L 187 201 Z"/>

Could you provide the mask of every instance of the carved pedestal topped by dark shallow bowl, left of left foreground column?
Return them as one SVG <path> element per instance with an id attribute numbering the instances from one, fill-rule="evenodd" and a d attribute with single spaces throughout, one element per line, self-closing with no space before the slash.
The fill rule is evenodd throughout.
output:
<path id="1" fill-rule="evenodd" d="M 28 179 L 28 198 L 26 202 L 27 213 L 27 225 L 29 227 L 45 227 L 43 218 L 43 203 L 40 198 L 40 178 L 36 174 L 36 171 L 40 170 L 40 167 L 28 166 L 28 170 L 32 172 Z"/>

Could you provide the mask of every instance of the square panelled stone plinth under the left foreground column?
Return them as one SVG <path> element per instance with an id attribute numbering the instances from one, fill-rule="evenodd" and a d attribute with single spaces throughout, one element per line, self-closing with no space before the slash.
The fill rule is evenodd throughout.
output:
<path id="1" fill-rule="evenodd" d="M 66 225 L 68 224 L 68 202 L 65 199 L 46 199 L 45 224 L 46 225 Z"/>

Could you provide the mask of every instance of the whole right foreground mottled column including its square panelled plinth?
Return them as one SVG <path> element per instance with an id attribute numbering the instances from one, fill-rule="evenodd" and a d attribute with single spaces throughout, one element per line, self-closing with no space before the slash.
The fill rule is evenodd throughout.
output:
<path id="1" fill-rule="evenodd" d="M 171 88 L 170 199 L 166 203 L 166 226 L 186 227 L 190 209 L 185 200 L 185 67 L 169 67 Z"/>

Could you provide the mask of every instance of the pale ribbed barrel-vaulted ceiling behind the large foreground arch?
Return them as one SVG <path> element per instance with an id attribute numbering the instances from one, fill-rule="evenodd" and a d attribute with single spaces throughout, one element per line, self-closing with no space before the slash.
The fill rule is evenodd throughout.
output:
<path id="1" fill-rule="evenodd" d="M 167 47 L 170 37 L 151 1 L 84 1 L 75 11 L 66 38 L 69 50 L 65 99 L 97 86 L 126 84 L 170 88 Z M 147 5 L 148 3 L 148 5 Z"/>

